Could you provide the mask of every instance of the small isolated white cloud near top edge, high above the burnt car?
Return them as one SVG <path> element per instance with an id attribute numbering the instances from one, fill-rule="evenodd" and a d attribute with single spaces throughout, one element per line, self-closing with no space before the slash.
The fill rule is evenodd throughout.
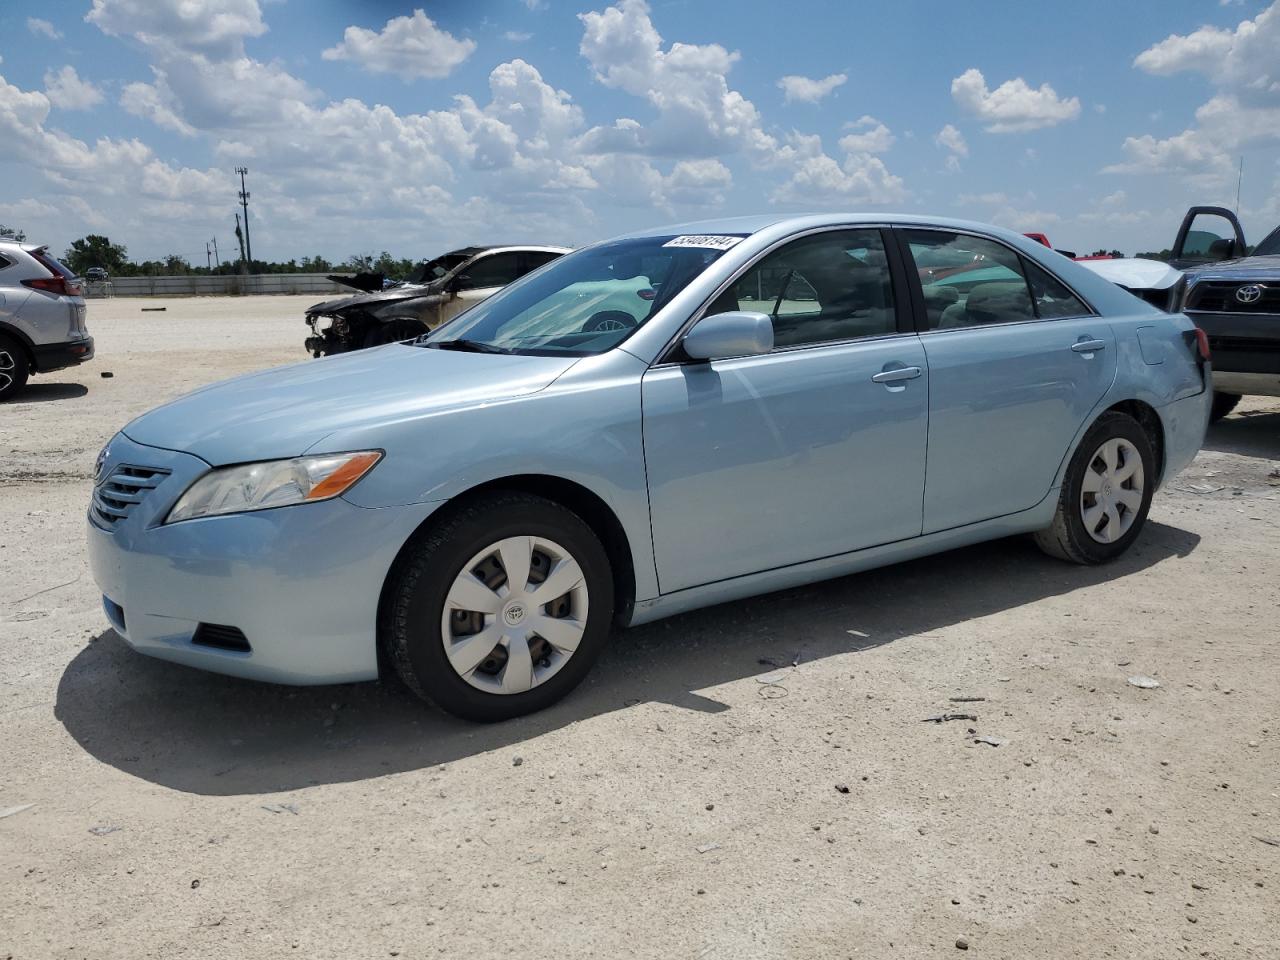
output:
<path id="1" fill-rule="evenodd" d="M 320 56 L 352 60 L 371 73 L 393 73 L 408 82 L 448 77 L 475 49 L 474 40 L 458 40 L 436 27 L 422 10 L 413 10 L 412 17 L 387 20 L 380 33 L 347 27 L 342 42 Z"/>

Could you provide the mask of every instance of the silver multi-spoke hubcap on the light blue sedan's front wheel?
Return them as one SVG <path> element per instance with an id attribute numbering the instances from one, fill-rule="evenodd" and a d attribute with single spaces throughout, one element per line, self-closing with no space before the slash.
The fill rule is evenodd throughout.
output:
<path id="1" fill-rule="evenodd" d="M 586 630 L 586 579 L 559 544 L 512 536 L 462 567 L 440 636 L 460 677 L 488 694 L 522 694 L 556 676 Z"/>

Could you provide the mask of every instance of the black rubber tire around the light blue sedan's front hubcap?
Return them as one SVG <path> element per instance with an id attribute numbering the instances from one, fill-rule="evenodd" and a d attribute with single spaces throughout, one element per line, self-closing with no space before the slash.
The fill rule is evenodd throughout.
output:
<path id="1" fill-rule="evenodd" d="M 561 544 L 582 568 L 586 625 L 577 649 L 544 682 L 520 694 L 479 690 L 445 655 L 442 614 L 454 579 L 477 552 L 508 536 L 540 536 Z M 380 628 L 388 659 L 419 696 L 480 723 L 541 710 L 566 696 L 591 669 L 613 622 L 609 557 L 581 517 L 558 503 L 524 493 L 495 493 L 449 513 L 411 541 L 390 573 Z"/>

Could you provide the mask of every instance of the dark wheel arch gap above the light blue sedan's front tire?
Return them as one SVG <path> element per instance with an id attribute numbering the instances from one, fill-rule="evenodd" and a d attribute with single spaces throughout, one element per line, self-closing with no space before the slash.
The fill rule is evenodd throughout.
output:
<path id="1" fill-rule="evenodd" d="M 613 508 L 594 490 L 573 480 L 548 474 L 516 474 L 493 480 L 486 480 L 475 486 L 451 497 L 440 509 L 434 511 L 424 520 L 396 554 L 390 567 L 383 577 L 381 591 L 378 598 L 378 658 L 379 672 L 387 675 L 387 666 L 383 662 L 385 648 L 383 643 L 385 611 L 389 603 L 389 588 L 401 558 L 425 535 L 430 534 L 439 524 L 445 521 L 452 513 L 474 503 L 476 499 L 495 493 L 525 493 L 558 503 L 580 516 L 588 526 L 600 538 L 600 544 L 609 557 L 609 566 L 613 572 L 614 611 L 613 620 L 618 625 L 625 625 L 631 620 L 631 611 L 635 607 L 636 576 L 635 557 L 631 553 L 631 539 L 626 527 L 618 520 Z"/>

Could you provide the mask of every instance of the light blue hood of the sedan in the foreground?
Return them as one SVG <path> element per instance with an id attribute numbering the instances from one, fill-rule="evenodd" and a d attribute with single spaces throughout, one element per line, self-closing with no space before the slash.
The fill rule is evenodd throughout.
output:
<path id="1" fill-rule="evenodd" d="M 392 343 L 212 384 L 124 434 L 214 466 L 297 457 L 337 430 L 536 393 L 576 361 Z"/>

